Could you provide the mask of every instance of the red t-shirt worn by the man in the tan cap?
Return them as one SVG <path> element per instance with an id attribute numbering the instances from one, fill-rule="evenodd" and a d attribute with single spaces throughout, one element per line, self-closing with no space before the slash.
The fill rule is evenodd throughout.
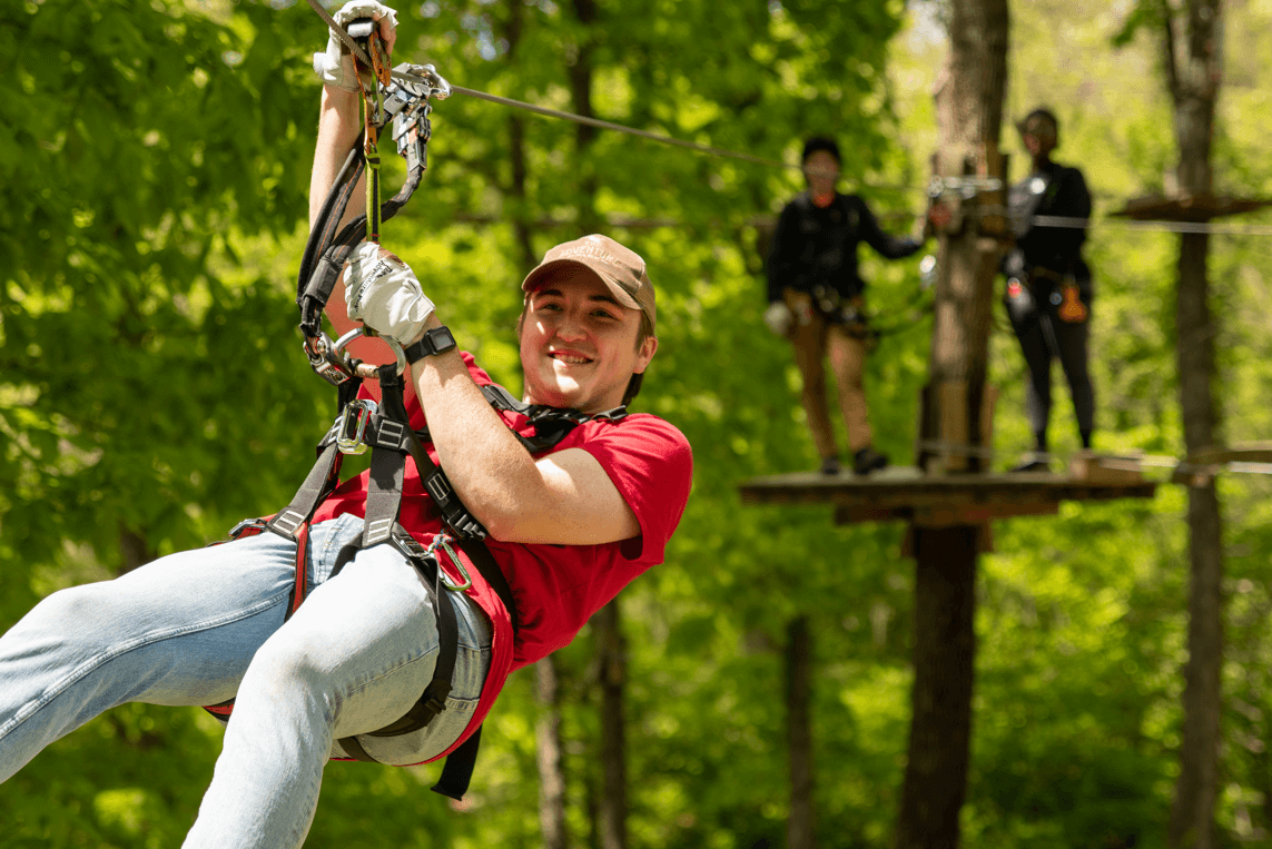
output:
<path id="1" fill-rule="evenodd" d="M 463 358 L 477 385 L 492 383 L 472 355 L 464 352 Z M 365 397 L 365 388 L 363 393 Z M 424 411 L 413 397 L 407 402 L 407 412 L 411 426 L 422 428 Z M 527 424 L 524 416 L 511 412 L 500 416 L 518 432 L 533 433 L 534 428 Z M 431 444 L 425 449 L 436 463 L 436 449 Z M 491 665 L 472 722 L 454 746 L 439 757 L 477 730 L 513 670 L 569 644 L 588 619 L 619 590 L 649 567 L 661 563 L 667 541 L 684 512 L 693 478 L 693 456 L 684 435 L 661 418 L 633 413 L 619 422 L 586 422 L 537 456 L 566 449 L 583 449 L 600 463 L 636 513 L 640 536 L 603 545 L 523 544 L 486 538 L 486 547 L 513 590 L 519 624 L 515 639 L 513 621 L 499 595 L 460 553 L 473 581 L 467 595 L 486 611 L 494 625 Z M 364 472 L 337 487 L 318 507 L 313 521 L 326 521 L 342 513 L 365 516 L 368 477 L 369 473 Z M 441 517 L 410 458 L 398 521 L 425 545 L 443 530 Z M 458 548 L 455 550 L 459 553 Z M 458 573 L 446 558 L 441 559 L 446 573 L 458 583 Z"/>

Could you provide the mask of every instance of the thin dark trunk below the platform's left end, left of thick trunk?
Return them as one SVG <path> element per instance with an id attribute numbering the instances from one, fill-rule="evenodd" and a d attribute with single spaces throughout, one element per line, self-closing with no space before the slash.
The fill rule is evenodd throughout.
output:
<path id="1" fill-rule="evenodd" d="M 813 849 L 813 638 L 808 616 L 786 627 L 786 745 L 790 750 L 791 810 L 787 849 Z"/>

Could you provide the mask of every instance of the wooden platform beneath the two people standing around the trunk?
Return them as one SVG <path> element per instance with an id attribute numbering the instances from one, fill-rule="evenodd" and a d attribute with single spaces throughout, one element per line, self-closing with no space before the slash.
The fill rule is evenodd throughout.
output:
<path id="1" fill-rule="evenodd" d="M 1046 472 L 925 475 L 894 466 L 869 477 L 778 474 L 753 478 L 739 489 L 749 505 L 831 505 L 838 525 L 902 519 L 923 527 L 949 527 L 1052 515 L 1062 501 L 1152 498 L 1158 484 L 1079 480 Z"/>

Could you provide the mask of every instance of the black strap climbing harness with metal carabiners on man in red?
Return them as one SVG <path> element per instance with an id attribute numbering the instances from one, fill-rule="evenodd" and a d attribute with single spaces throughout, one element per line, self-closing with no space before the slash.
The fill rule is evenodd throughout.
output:
<path id="1" fill-rule="evenodd" d="M 331 23 L 333 25 L 333 22 Z M 354 247 L 364 239 L 378 244 L 380 225 L 393 217 L 418 187 L 427 166 L 427 142 L 431 136 L 430 100 L 444 99 L 452 90 L 431 65 L 399 65 L 389 71 L 374 20 L 350 22 L 347 33 L 338 27 L 336 29 L 340 31 L 342 39 L 347 36 L 357 47 L 352 55 L 361 85 L 363 131 L 310 229 L 300 262 L 296 305 L 300 309 L 305 356 L 314 372 L 336 388 L 338 412 L 335 423 L 318 442 L 317 463 L 291 502 L 270 519 L 239 522 L 230 531 L 230 539 L 268 531 L 296 544 L 295 582 L 285 614 L 285 618 L 290 618 L 305 599 L 305 567 L 310 554 L 309 527 L 313 516 L 340 483 L 343 456 L 371 451 L 363 534 L 340 550 L 331 574 L 332 577 L 338 574 L 363 549 L 379 544 L 393 545 L 425 578 L 439 635 L 432 680 L 420 699 L 406 716 L 365 735 L 392 737 L 424 728 L 446 709 L 445 702 L 452 689 L 459 632 L 454 608 L 445 599 L 445 594 L 463 592 L 472 587 L 472 578 L 457 548 L 468 557 L 468 562 L 500 597 L 511 619 L 514 634 L 519 623 L 511 587 L 483 541 L 486 529 L 459 501 L 445 473 L 425 450 L 425 444 L 431 441 L 427 428 L 413 431 L 410 426 L 404 402 L 407 361 L 402 347 L 388 337 L 380 337 L 393 350 L 396 362 L 374 366 L 350 357 L 346 352 L 354 339 L 374 334 L 369 328 L 351 330 L 335 342 L 322 329 L 323 310 Z M 407 178 L 393 198 L 380 203 L 377 141 L 380 130 L 389 119 L 393 121 L 393 139 L 398 154 L 407 161 Z M 364 173 L 368 211 L 337 229 Z M 379 403 L 357 398 L 364 380 L 379 383 Z M 583 422 L 591 419 L 617 422 L 627 414 L 625 407 L 618 407 L 598 416 L 586 416 L 572 409 L 525 404 L 501 386 L 487 385 L 481 390 L 496 411 L 527 417 L 527 423 L 534 427 L 533 435 L 525 436 L 516 431 L 514 433 L 532 454 L 555 447 Z M 443 533 L 438 534 L 427 547 L 411 536 L 398 522 L 408 456 L 415 463 L 421 483 L 438 507 L 444 525 Z M 453 582 L 448 577 L 443 568 L 443 557 L 449 559 L 454 572 L 460 576 L 460 582 Z M 206 709 L 221 719 L 228 719 L 233 699 Z M 480 740 L 478 727 L 448 755 L 441 777 L 432 788 L 435 792 L 455 799 L 463 797 L 472 777 Z M 374 761 L 357 737 L 343 737 L 340 745 L 352 759 Z"/>

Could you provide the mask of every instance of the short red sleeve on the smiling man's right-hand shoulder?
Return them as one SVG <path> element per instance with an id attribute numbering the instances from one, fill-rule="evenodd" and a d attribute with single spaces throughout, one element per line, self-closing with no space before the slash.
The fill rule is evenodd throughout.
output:
<path id="1" fill-rule="evenodd" d="M 693 452 L 675 426 L 633 414 L 598 427 L 579 447 L 594 456 L 640 522 L 640 536 L 621 547 L 630 560 L 661 563 L 684 513 L 693 483 Z"/>

